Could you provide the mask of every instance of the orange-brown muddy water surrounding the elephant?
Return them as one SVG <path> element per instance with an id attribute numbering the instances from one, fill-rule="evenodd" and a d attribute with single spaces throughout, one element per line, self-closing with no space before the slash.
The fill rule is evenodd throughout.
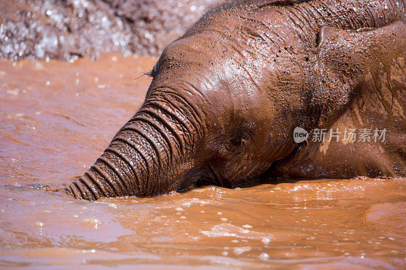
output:
<path id="1" fill-rule="evenodd" d="M 150 79 L 134 79 L 154 62 L 0 62 L 0 267 L 406 267 L 406 179 L 206 186 L 92 203 L 31 188 L 89 168 L 143 102 Z"/>

